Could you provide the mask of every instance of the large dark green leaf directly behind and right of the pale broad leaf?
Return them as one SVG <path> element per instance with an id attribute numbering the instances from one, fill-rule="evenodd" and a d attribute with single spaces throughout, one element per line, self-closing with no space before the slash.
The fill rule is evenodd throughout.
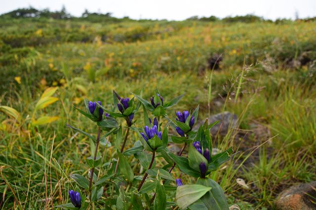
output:
<path id="1" fill-rule="evenodd" d="M 198 179 L 197 184 L 211 187 L 201 201 L 209 210 L 229 210 L 227 199 L 221 186 L 216 181 L 211 179 Z"/>

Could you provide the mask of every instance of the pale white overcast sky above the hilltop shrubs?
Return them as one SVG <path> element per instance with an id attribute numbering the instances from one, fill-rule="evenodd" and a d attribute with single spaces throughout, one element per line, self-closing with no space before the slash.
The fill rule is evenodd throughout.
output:
<path id="1" fill-rule="evenodd" d="M 316 0 L 0 0 L 0 14 L 28 7 L 60 10 L 66 6 L 72 15 L 90 12 L 113 13 L 133 19 L 184 20 L 192 16 L 227 17 L 255 14 L 265 18 L 300 18 L 316 16 Z"/>

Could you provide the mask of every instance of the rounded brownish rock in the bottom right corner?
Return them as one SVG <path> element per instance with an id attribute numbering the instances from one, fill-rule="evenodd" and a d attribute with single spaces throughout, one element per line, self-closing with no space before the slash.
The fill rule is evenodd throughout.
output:
<path id="1" fill-rule="evenodd" d="M 276 210 L 316 210 L 316 181 L 283 190 L 276 198 Z"/>

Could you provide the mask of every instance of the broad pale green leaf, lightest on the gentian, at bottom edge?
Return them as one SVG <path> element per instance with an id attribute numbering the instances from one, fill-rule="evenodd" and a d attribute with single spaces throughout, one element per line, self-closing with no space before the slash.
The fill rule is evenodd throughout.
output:
<path id="1" fill-rule="evenodd" d="M 186 184 L 177 187 L 176 201 L 180 209 L 186 209 L 189 205 L 200 199 L 211 187 L 200 184 Z"/>

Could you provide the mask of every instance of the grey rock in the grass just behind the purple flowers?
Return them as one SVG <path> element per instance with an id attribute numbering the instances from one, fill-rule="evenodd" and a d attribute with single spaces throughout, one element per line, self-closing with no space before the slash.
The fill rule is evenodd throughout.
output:
<path id="1" fill-rule="evenodd" d="M 219 120 L 219 123 L 217 123 L 210 129 L 212 136 L 216 136 L 217 133 L 220 136 L 225 136 L 230 128 L 235 129 L 237 127 L 237 119 L 237 116 L 230 112 L 222 112 L 216 115 L 212 115 L 208 119 L 209 123 Z"/>

